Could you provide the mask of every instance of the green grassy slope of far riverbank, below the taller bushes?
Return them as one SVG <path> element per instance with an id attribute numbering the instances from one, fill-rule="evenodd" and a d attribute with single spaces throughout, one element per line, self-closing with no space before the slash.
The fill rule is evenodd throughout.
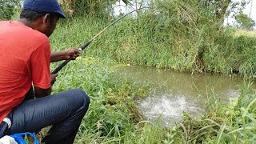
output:
<path id="1" fill-rule="evenodd" d="M 178 31 L 158 18 L 150 23 L 149 16 L 145 17 L 123 19 L 92 42 L 83 54 L 111 62 L 190 73 L 256 77 L 255 37 L 238 36 L 230 29 L 206 28 L 207 25 L 198 30 Z M 62 42 L 53 45 L 54 50 L 82 46 L 108 23 L 95 18 L 71 19 L 58 26 L 53 35 L 52 42 Z"/>

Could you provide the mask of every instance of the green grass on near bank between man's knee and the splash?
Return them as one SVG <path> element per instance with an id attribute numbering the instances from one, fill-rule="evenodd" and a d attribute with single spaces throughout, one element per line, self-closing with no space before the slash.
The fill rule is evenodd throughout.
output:
<path id="1" fill-rule="evenodd" d="M 118 80 L 108 62 L 80 57 L 68 65 L 60 72 L 54 93 L 72 88 L 85 90 L 91 98 L 77 143 L 122 143 L 126 134 L 134 131 L 134 123 L 142 120 L 134 97 L 146 95 L 146 87 Z"/>

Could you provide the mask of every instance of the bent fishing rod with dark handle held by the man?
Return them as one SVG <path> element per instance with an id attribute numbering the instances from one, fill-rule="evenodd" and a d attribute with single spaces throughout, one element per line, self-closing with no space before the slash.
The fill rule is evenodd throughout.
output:
<path id="1" fill-rule="evenodd" d="M 86 42 L 81 48 L 79 48 L 78 50 L 81 52 L 82 50 L 85 50 L 87 46 L 90 45 L 90 42 L 93 42 L 94 39 L 98 38 L 98 36 L 100 36 L 102 33 L 104 33 L 106 30 L 108 30 L 110 28 L 110 26 L 114 26 L 114 24 L 118 21 L 120 21 L 122 18 L 125 18 L 127 15 L 133 13 L 134 11 L 137 10 L 141 10 L 141 9 L 146 9 L 148 7 L 141 7 L 138 8 L 136 10 L 130 11 L 130 13 L 123 15 L 121 18 L 118 18 L 117 20 L 115 20 L 114 22 L 110 23 L 109 26 L 106 26 L 102 31 L 100 31 L 98 34 L 96 34 L 93 38 L 90 38 L 90 40 L 88 42 Z M 62 68 L 64 66 L 66 66 L 67 63 L 69 63 L 72 60 L 72 57 L 70 57 L 70 59 L 67 59 L 65 62 L 62 62 L 62 64 L 60 66 L 58 66 L 51 74 L 57 74 L 59 70 L 62 70 Z"/>

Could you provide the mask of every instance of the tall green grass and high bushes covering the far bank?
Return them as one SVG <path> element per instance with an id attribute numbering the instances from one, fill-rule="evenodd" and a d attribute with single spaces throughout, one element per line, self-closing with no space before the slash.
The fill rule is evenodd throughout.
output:
<path id="1" fill-rule="evenodd" d="M 235 36 L 201 5 L 186 0 L 158 2 L 154 9 L 118 22 L 86 54 L 134 65 L 255 78 L 256 39 Z M 54 39 L 82 46 L 109 23 L 104 18 L 73 18 L 59 27 L 68 36 L 55 34 Z"/>

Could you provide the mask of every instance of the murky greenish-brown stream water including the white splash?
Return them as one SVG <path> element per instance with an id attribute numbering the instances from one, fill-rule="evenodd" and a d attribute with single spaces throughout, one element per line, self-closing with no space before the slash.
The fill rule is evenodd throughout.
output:
<path id="1" fill-rule="evenodd" d="M 152 92 L 138 99 L 138 110 L 150 122 L 170 126 L 182 120 L 183 112 L 192 118 L 204 113 L 205 102 L 213 95 L 225 104 L 239 97 L 244 84 L 239 78 L 226 78 L 213 74 L 186 74 L 147 66 L 118 68 L 118 76 L 131 82 L 150 84 Z"/>

